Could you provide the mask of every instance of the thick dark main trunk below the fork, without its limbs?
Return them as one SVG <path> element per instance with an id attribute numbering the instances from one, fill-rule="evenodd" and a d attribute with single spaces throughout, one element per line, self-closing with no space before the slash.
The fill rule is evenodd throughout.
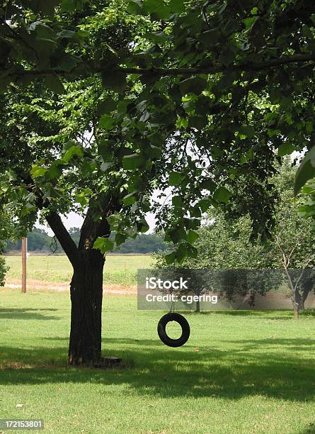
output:
<path id="1" fill-rule="evenodd" d="M 104 262 L 98 250 L 79 250 L 70 285 L 69 365 L 101 364 Z"/>

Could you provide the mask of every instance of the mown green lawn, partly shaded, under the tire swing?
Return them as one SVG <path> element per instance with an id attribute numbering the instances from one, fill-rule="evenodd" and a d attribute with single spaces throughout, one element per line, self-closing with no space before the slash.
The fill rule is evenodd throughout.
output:
<path id="1" fill-rule="evenodd" d="M 181 348 L 159 341 L 160 316 L 106 296 L 103 355 L 125 367 L 69 368 L 69 295 L 1 289 L 0 418 L 42 418 L 47 433 L 315 432 L 310 313 L 185 313 Z"/>

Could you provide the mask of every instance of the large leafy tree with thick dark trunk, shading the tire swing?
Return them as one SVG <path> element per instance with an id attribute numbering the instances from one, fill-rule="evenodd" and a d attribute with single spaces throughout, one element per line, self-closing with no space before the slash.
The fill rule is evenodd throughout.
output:
<path id="1" fill-rule="evenodd" d="M 119 245 L 156 212 L 175 245 L 167 260 L 181 262 L 197 255 L 195 230 L 216 205 L 249 214 L 266 239 L 275 160 L 314 135 L 314 5 L 130 0 L 97 13 L 96 3 L 1 9 L 1 201 L 25 230 L 40 211 L 74 267 L 78 363 L 101 357 L 111 231 Z M 171 200 L 152 204 L 156 188 Z M 85 216 L 79 247 L 59 216 L 71 210 Z"/>

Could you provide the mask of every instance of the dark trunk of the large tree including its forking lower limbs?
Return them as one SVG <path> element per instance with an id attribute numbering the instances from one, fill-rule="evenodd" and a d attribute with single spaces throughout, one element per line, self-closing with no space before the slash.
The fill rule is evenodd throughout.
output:
<path id="1" fill-rule="evenodd" d="M 99 366 L 102 340 L 103 267 L 105 258 L 99 250 L 93 249 L 96 238 L 110 235 L 106 217 L 118 206 L 108 203 L 102 208 L 103 218 L 96 219 L 91 204 L 81 228 L 77 247 L 62 219 L 50 212 L 46 219 L 59 243 L 66 252 L 74 269 L 70 284 L 71 331 L 69 339 L 69 365 Z"/>

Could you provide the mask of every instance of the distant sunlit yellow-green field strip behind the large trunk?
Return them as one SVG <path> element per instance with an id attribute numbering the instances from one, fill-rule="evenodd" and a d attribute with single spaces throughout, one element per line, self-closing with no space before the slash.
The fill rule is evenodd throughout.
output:
<path id="1" fill-rule="evenodd" d="M 149 268 L 150 256 L 112 255 L 106 258 L 104 282 L 106 284 L 137 284 L 137 269 Z M 10 267 L 7 279 L 21 279 L 21 257 L 7 256 Z M 70 282 L 72 267 L 66 256 L 30 256 L 28 259 L 28 279 L 46 282 Z"/>

